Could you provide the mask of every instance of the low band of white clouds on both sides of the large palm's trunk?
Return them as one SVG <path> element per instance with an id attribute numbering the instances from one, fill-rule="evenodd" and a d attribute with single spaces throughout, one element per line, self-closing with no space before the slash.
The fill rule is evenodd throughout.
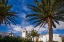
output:
<path id="1" fill-rule="evenodd" d="M 54 32 L 57 32 L 56 31 L 57 29 L 59 29 L 59 30 L 63 30 L 64 29 L 64 26 L 63 26 L 64 22 L 61 22 L 61 21 L 59 21 L 59 22 L 60 22 L 60 25 L 56 24 L 57 28 L 54 29 Z M 28 32 L 30 32 L 32 29 L 35 29 L 40 34 L 42 32 L 48 32 L 48 26 L 47 26 L 47 24 L 46 24 L 45 27 L 39 27 L 39 26 L 34 27 L 33 25 L 27 25 L 27 26 L 22 27 L 21 25 L 11 25 L 11 28 L 12 28 L 13 33 L 22 32 L 25 28 L 26 28 L 26 30 Z M 10 32 L 10 30 L 9 30 L 9 32 Z"/>

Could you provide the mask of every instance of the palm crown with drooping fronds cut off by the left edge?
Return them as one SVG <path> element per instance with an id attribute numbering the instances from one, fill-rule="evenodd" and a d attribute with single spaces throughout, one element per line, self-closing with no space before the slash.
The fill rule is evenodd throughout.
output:
<path id="1" fill-rule="evenodd" d="M 10 11 L 12 5 L 8 5 L 8 0 L 0 0 L 0 25 L 16 24 L 16 12 Z"/>

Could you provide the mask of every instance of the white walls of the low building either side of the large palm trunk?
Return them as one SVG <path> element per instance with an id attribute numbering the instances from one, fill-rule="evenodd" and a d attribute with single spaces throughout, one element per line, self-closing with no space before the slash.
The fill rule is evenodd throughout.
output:
<path id="1" fill-rule="evenodd" d="M 49 41 L 49 35 L 43 35 L 39 37 L 39 41 L 47 42 Z M 59 37 L 59 34 L 53 34 L 53 41 L 62 42 L 62 37 Z"/>

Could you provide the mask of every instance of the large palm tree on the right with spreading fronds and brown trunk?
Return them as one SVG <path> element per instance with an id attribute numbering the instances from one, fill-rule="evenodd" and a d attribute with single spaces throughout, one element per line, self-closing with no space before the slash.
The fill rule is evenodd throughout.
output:
<path id="1" fill-rule="evenodd" d="M 53 42 L 53 28 L 56 28 L 55 23 L 59 24 L 59 21 L 64 21 L 64 0 L 35 0 L 35 5 L 29 4 L 29 8 L 32 10 L 32 14 L 28 14 L 26 17 L 28 21 L 32 21 L 32 24 L 36 26 L 44 26 L 48 24 L 49 29 L 49 42 Z"/>

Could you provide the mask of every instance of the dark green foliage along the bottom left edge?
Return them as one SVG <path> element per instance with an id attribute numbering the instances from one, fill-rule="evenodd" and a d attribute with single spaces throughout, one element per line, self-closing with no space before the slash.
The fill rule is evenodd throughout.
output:
<path id="1" fill-rule="evenodd" d="M 27 38 L 5 36 L 0 38 L 0 42 L 31 42 L 31 40 Z"/>

